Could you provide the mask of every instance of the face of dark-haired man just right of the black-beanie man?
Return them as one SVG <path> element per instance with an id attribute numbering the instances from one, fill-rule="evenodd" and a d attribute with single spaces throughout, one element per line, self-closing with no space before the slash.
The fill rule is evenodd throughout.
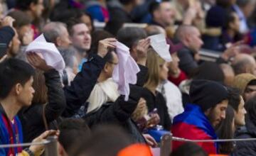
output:
<path id="1" fill-rule="evenodd" d="M 242 99 L 242 96 L 240 98 L 238 111 L 235 111 L 235 126 L 245 126 L 245 101 Z"/>

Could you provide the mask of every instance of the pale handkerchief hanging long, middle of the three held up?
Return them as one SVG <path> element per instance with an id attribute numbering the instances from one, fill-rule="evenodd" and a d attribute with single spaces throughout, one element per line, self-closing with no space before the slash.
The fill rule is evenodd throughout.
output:
<path id="1" fill-rule="evenodd" d="M 137 73 L 140 71 L 139 66 L 129 53 L 126 45 L 117 42 L 118 65 L 114 67 L 113 79 L 118 84 L 119 94 L 125 96 L 124 100 L 129 99 L 129 84 L 137 83 Z"/>

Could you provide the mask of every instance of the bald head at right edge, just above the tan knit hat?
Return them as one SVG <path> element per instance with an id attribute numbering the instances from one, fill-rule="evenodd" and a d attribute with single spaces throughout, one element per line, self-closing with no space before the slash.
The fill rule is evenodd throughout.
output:
<path id="1" fill-rule="evenodd" d="M 236 55 L 232 65 L 236 75 L 242 73 L 255 74 L 256 62 L 251 55 Z"/>

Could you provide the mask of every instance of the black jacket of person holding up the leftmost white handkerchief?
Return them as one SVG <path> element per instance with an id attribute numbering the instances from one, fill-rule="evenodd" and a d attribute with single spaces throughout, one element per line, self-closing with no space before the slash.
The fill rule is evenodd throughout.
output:
<path id="1" fill-rule="evenodd" d="M 55 69 L 45 72 L 48 88 L 48 104 L 45 106 L 46 121 L 49 129 L 57 129 L 57 119 L 65 109 L 65 96 L 60 82 L 60 75 Z M 24 142 L 31 142 L 41 135 L 46 128 L 43 123 L 43 104 L 32 104 L 18 114 L 23 127 Z"/>

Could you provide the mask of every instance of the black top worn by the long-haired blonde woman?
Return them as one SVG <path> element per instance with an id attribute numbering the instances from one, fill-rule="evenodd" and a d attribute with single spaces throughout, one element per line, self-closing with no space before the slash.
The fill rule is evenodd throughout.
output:
<path id="1" fill-rule="evenodd" d="M 171 130 L 171 118 L 168 113 L 164 96 L 158 91 L 156 91 L 155 96 L 149 89 L 144 88 L 142 97 L 146 100 L 146 106 L 149 109 L 149 113 L 153 111 L 154 108 L 157 108 L 157 113 L 160 117 L 159 125 L 163 126 L 165 130 Z"/>

